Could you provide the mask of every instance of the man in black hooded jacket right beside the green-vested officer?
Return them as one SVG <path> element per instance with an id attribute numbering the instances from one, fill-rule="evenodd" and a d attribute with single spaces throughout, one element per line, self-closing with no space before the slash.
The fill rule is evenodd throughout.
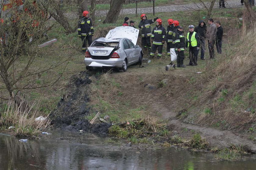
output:
<path id="1" fill-rule="evenodd" d="M 201 45 L 200 58 L 201 58 L 201 60 L 204 60 L 206 29 L 207 29 L 207 27 L 203 20 L 199 21 L 198 26 L 196 26 L 196 28 L 195 28 L 195 32 L 198 33 L 199 39 L 200 39 L 200 45 Z"/>

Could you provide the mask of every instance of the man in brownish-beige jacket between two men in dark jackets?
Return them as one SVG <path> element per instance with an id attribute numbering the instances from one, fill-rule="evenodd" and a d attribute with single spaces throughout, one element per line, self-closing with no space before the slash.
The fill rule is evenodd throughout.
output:
<path id="1" fill-rule="evenodd" d="M 215 44 L 217 28 L 216 28 L 216 25 L 212 18 L 208 20 L 208 24 L 210 26 L 207 28 L 207 31 L 206 31 L 206 40 L 208 40 L 208 48 L 209 48 L 210 58 L 213 59 L 214 58 L 214 44 Z"/>

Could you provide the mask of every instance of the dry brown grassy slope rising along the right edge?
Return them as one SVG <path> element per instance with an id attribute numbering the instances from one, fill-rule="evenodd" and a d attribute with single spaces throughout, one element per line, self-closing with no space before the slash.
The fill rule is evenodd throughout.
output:
<path id="1" fill-rule="evenodd" d="M 216 61 L 206 63 L 208 80 L 204 81 L 201 90 L 204 95 L 194 102 L 202 110 L 196 116 L 199 124 L 246 130 L 256 121 L 255 26 L 235 36 L 236 43 L 229 43 Z M 205 108 L 212 112 L 204 113 Z M 248 108 L 251 110 L 245 111 Z"/>

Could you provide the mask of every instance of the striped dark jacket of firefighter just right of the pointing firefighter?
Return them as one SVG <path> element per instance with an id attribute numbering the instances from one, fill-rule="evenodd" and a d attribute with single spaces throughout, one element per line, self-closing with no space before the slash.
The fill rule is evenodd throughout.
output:
<path id="1" fill-rule="evenodd" d="M 165 41 L 165 28 L 160 25 L 159 27 L 155 27 L 152 30 L 151 39 L 153 40 L 153 44 L 155 45 L 163 45 L 162 41 Z"/>

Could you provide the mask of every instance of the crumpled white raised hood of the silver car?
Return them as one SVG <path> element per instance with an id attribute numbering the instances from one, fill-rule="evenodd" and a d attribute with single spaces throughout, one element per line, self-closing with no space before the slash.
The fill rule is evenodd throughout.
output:
<path id="1" fill-rule="evenodd" d="M 128 38 L 136 45 L 138 36 L 139 29 L 133 28 L 132 26 L 118 26 L 114 29 L 109 30 L 105 38 Z"/>

